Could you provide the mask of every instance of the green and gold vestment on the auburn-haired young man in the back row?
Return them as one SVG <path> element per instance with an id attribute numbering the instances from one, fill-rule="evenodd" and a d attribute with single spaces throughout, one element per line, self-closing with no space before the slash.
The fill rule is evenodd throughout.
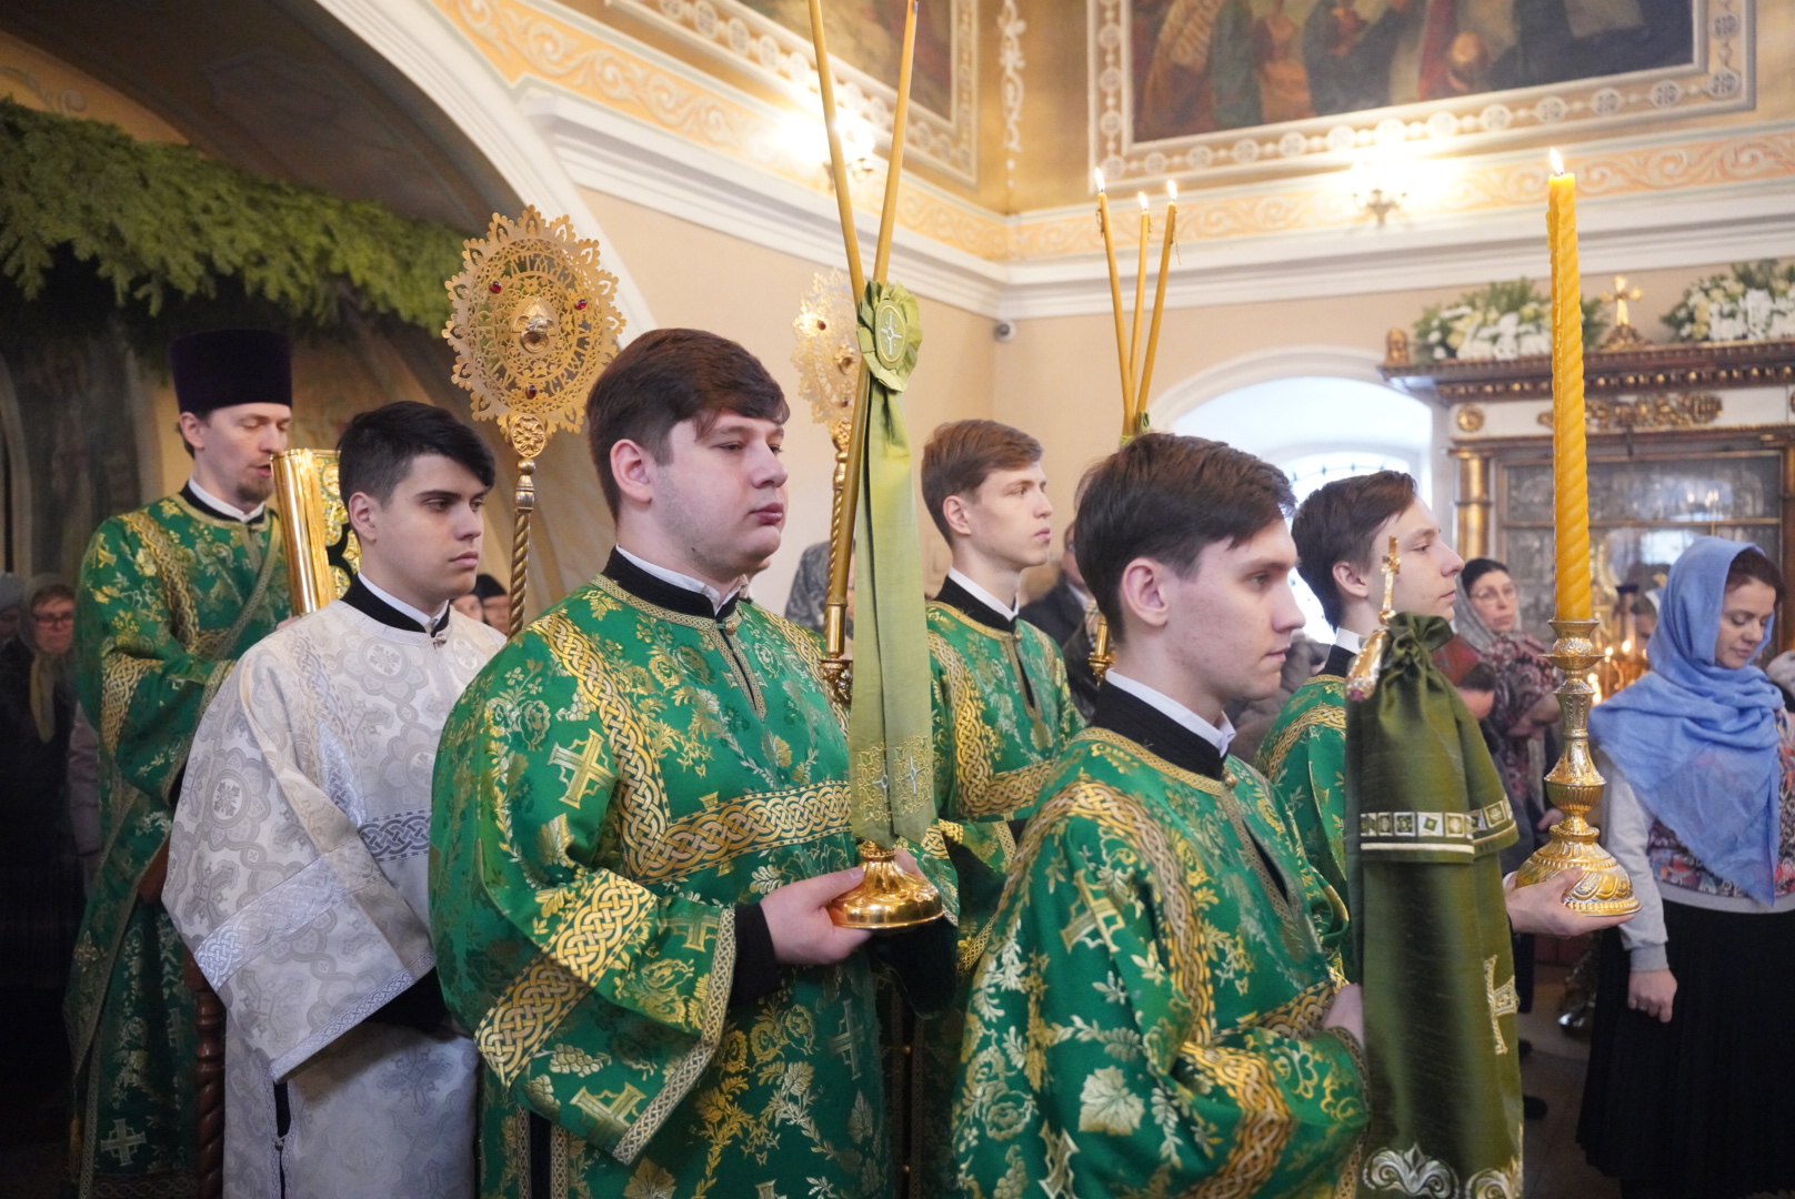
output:
<path id="1" fill-rule="evenodd" d="M 951 1109 L 973 967 L 985 946 L 1016 840 L 1054 759 L 1084 727 L 1059 646 L 948 580 L 928 605 L 935 684 L 935 810 L 960 892 L 960 984 L 948 1011 L 910 1037 L 910 1195 L 957 1192 Z"/>

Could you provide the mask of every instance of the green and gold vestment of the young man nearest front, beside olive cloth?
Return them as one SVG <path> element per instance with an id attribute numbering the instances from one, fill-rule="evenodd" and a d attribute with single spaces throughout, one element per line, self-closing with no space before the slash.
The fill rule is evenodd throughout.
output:
<path id="1" fill-rule="evenodd" d="M 1116 732 L 1115 693 L 1046 783 L 978 964 L 966 1192 L 1335 1194 L 1366 1122 L 1357 1045 L 1321 1028 L 1341 978 L 1318 914 L 1341 905 L 1258 774 L 1213 748 L 1212 775 L 1174 765 Z"/>

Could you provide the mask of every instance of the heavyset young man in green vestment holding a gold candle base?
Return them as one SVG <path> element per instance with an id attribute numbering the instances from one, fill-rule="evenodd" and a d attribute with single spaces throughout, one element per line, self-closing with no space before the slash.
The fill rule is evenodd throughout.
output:
<path id="1" fill-rule="evenodd" d="M 738 603 L 779 547 L 786 404 L 661 328 L 587 402 L 617 547 L 468 687 L 431 923 L 488 1066 L 485 1194 L 883 1195 L 845 713 L 817 639 Z"/>

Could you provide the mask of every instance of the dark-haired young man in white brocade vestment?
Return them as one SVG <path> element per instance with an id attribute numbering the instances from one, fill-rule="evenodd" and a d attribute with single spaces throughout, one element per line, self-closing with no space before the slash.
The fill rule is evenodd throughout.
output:
<path id="1" fill-rule="evenodd" d="M 427 404 L 355 416 L 350 591 L 242 655 L 194 736 L 167 905 L 224 1000 L 226 1199 L 470 1199 L 474 1043 L 431 950 L 431 772 L 504 637 L 451 612 L 492 452 Z"/>

